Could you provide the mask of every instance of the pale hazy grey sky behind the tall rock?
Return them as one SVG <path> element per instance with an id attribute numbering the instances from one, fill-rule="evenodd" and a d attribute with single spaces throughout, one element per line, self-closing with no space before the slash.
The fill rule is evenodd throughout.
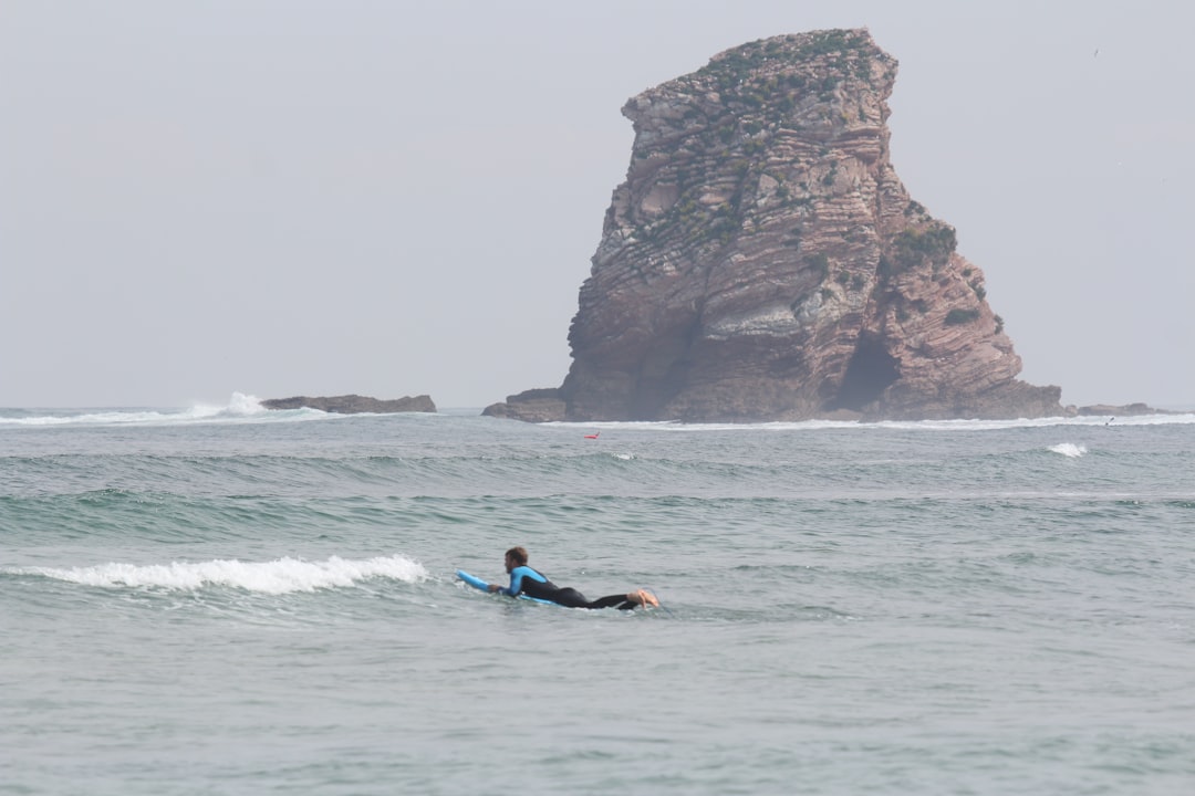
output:
<path id="1" fill-rule="evenodd" d="M 868 26 L 893 163 L 1065 403 L 1195 405 L 1195 7 L 0 2 L 0 406 L 554 387 L 633 94 Z"/>

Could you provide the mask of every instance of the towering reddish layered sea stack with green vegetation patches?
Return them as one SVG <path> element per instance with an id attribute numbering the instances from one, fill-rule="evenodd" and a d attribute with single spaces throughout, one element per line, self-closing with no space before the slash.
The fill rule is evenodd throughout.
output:
<path id="1" fill-rule="evenodd" d="M 1061 414 L 955 230 L 888 159 L 896 61 L 865 30 L 723 53 L 623 109 L 636 140 L 569 331 L 527 420 Z"/>

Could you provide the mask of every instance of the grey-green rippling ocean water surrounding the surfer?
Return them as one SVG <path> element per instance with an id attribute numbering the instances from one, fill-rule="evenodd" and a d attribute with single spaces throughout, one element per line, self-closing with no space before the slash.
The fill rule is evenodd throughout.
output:
<path id="1" fill-rule="evenodd" d="M 0 794 L 1195 792 L 1195 414 L 4 409 L 0 535 Z"/>

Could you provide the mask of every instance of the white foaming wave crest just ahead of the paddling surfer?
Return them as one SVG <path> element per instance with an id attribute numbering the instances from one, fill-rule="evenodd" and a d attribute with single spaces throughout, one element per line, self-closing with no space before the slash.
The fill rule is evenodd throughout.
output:
<path id="1" fill-rule="evenodd" d="M 206 586 L 228 586 L 263 594 L 314 592 L 319 588 L 343 588 L 372 578 L 390 578 L 404 582 L 427 580 L 423 564 L 403 556 L 350 561 L 332 556 L 327 561 L 278 559 L 277 561 L 204 561 L 137 566 L 105 563 L 96 567 L 29 567 L 10 569 L 10 574 L 42 575 L 84 586 L 108 588 L 165 588 L 195 591 Z"/>

